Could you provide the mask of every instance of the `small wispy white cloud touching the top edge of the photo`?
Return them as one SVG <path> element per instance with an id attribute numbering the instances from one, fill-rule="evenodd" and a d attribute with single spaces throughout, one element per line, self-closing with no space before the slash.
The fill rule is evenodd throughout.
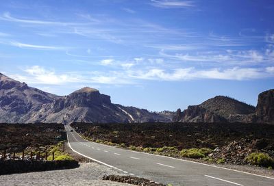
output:
<path id="1" fill-rule="evenodd" d="M 160 8 L 188 8 L 195 6 L 193 1 L 151 0 L 151 5 Z"/>

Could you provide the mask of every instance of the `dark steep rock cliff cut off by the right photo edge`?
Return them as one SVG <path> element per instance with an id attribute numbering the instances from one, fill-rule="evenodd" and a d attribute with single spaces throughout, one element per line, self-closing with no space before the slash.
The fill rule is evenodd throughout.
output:
<path id="1" fill-rule="evenodd" d="M 258 122 L 274 124 L 274 89 L 259 94 L 256 116 Z"/>

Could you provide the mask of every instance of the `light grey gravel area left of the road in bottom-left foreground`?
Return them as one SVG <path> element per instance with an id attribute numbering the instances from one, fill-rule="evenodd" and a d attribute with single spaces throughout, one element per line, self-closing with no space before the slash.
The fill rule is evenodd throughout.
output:
<path id="1" fill-rule="evenodd" d="M 53 170 L 0 176 L 0 185 L 128 185 L 103 181 L 104 175 L 125 175 L 98 163 L 81 163 L 79 168 L 71 170 Z"/>

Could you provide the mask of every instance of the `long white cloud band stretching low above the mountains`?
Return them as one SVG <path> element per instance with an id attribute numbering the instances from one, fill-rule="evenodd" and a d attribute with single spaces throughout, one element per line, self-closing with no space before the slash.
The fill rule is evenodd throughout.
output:
<path id="1" fill-rule="evenodd" d="M 41 66 L 29 66 L 23 71 L 27 75 L 11 75 L 19 81 L 40 85 L 64 85 L 66 83 L 96 83 L 96 84 L 138 84 L 139 80 L 150 81 L 192 81 L 195 79 L 221 79 L 244 81 L 274 77 L 274 66 L 266 68 L 209 68 L 207 70 L 177 68 L 164 70 L 151 68 L 149 70 L 121 70 L 98 72 L 55 72 Z M 105 75 L 108 74 L 108 75 Z"/>

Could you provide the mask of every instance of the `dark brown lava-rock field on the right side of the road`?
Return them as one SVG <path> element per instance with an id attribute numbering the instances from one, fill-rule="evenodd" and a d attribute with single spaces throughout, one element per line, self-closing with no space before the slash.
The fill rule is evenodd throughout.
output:
<path id="1" fill-rule="evenodd" d="M 252 152 L 274 158 L 274 126 L 245 123 L 139 123 L 83 124 L 72 127 L 87 139 L 103 144 L 118 144 L 136 150 L 162 152 L 179 157 L 179 151 L 210 148 L 209 159 L 220 163 L 247 164 Z M 162 148 L 162 149 L 161 149 Z M 172 152 L 174 151 L 174 153 Z"/>

